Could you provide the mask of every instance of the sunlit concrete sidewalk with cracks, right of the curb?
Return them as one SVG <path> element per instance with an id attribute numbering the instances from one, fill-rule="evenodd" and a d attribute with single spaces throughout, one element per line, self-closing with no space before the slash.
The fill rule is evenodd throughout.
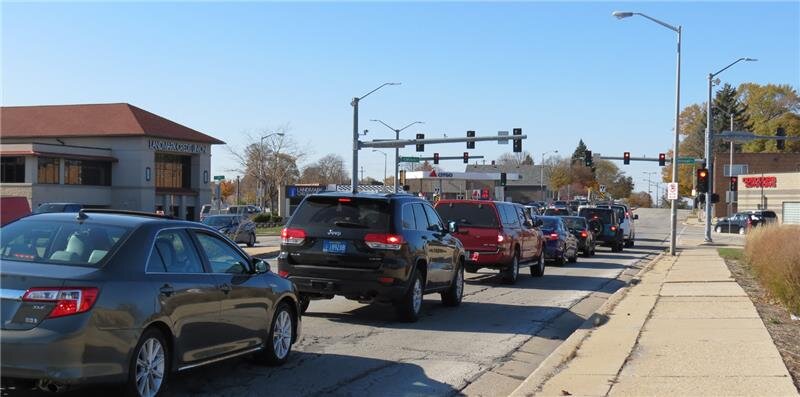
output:
<path id="1" fill-rule="evenodd" d="M 664 256 L 608 318 L 555 374 L 540 367 L 513 395 L 798 395 L 716 247 Z"/>

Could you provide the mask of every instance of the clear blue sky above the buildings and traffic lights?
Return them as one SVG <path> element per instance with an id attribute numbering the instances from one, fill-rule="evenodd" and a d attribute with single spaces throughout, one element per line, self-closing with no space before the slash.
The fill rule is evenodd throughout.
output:
<path id="1" fill-rule="evenodd" d="M 291 125 L 311 151 L 351 158 L 353 96 L 367 139 L 479 135 L 521 127 L 524 149 L 656 156 L 672 144 L 676 34 L 682 105 L 706 75 L 800 88 L 800 2 L 703 3 L 9 3 L 2 5 L 2 104 L 128 102 L 220 138 Z M 460 155 L 464 144 L 426 147 Z M 478 143 L 493 159 L 511 146 Z M 223 147 L 214 174 L 233 176 Z M 401 153 L 414 154 L 413 148 Z M 366 175 L 383 156 L 361 152 Z M 620 167 L 646 190 L 655 163 Z M 443 163 L 451 171 L 461 162 Z M 391 169 L 391 163 L 389 165 Z M 349 168 L 348 168 L 349 169 Z M 391 171 L 390 171 L 391 173 Z"/>

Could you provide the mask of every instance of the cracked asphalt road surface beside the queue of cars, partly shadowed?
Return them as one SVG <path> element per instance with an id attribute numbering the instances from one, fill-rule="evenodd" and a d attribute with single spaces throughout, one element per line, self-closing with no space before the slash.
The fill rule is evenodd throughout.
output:
<path id="1" fill-rule="evenodd" d="M 548 266 L 543 278 L 524 269 L 513 286 L 496 272 L 467 274 L 461 306 L 447 308 L 438 294 L 427 295 L 417 323 L 395 321 L 391 306 L 312 301 L 302 339 L 283 367 L 224 361 L 174 376 L 165 395 L 507 395 L 664 250 L 669 211 L 636 212 L 635 247 L 598 248 L 592 258 Z"/>

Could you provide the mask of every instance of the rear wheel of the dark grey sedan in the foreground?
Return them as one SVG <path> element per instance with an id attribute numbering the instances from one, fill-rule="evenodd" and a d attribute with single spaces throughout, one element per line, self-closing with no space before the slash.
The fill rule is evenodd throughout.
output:
<path id="1" fill-rule="evenodd" d="M 133 349 L 128 369 L 126 396 L 155 397 L 161 394 L 170 376 L 170 352 L 164 334 L 149 328 Z M 147 364 L 146 367 L 140 363 Z M 137 379 L 141 381 L 137 382 Z M 155 391 L 153 391 L 155 388 Z"/>

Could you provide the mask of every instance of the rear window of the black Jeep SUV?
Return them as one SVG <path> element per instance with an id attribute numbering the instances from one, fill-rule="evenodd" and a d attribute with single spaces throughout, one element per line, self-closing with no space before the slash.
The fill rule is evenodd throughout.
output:
<path id="1" fill-rule="evenodd" d="M 352 228 L 385 232 L 389 230 L 389 202 L 360 197 L 311 196 L 297 208 L 291 227 L 307 230 Z"/>

